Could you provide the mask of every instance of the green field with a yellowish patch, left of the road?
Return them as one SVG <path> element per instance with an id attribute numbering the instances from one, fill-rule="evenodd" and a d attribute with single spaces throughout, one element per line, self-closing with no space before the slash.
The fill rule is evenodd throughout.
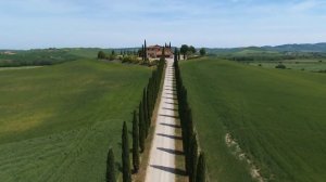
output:
<path id="1" fill-rule="evenodd" d="M 98 61 L 1 70 L 0 181 L 104 181 L 149 76 Z"/>

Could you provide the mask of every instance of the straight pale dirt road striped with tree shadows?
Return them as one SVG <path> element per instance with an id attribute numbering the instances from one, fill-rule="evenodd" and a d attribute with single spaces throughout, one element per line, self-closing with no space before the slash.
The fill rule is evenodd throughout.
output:
<path id="1" fill-rule="evenodd" d="M 175 150 L 175 141 L 181 138 L 175 134 L 175 129 L 179 127 L 176 126 L 177 105 L 174 91 L 173 61 L 167 60 L 146 182 L 174 182 L 179 172 L 175 167 L 175 157 L 180 152 Z"/>

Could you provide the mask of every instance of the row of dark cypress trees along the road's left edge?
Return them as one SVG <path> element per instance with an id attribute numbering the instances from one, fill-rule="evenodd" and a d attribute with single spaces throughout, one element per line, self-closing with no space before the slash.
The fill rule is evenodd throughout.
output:
<path id="1" fill-rule="evenodd" d="M 143 89 L 142 100 L 139 103 L 138 117 L 137 110 L 133 114 L 133 170 L 138 172 L 140 167 L 140 153 L 146 150 L 145 140 L 148 138 L 151 127 L 151 118 L 159 96 L 162 76 L 164 73 L 165 60 L 161 58 L 156 69 L 152 72 L 147 87 Z M 131 182 L 131 167 L 129 157 L 127 123 L 124 121 L 122 130 L 122 172 L 123 182 Z M 106 181 L 115 182 L 114 156 L 112 148 L 109 151 L 106 159 Z"/>

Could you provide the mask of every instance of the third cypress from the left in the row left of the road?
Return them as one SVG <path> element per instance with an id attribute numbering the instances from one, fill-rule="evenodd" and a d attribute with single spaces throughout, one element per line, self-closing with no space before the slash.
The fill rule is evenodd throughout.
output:
<path id="1" fill-rule="evenodd" d="M 137 173 L 139 170 L 139 126 L 137 120 L 136 110 L 134 110 L 133 119 L 133 165 L 134 171 Z"/>

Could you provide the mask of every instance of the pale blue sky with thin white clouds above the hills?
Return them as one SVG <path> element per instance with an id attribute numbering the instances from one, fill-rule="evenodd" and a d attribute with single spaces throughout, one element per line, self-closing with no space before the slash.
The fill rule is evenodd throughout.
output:
<path id="1" fill-rule="evenodd" d="M 326 41 L 326 0 L 0 0 L 0 49 Z"/>

